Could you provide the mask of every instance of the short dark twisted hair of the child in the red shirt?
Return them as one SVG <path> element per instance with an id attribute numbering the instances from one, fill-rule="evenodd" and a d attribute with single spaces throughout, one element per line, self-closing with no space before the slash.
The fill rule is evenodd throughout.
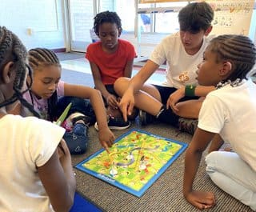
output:
<path id="1" fill-rule="evenodd" d="M 118 14 L 116 12 L 110 12 L 105 11 L 99 14 L 96 14 L 94 17 L 94 32 L 95 34 L 98 34 L 98 28 L 103 23 L 115 23 L 118 26 L 118 31 L 121 34 L 122 33 L 122 23 L 121 19 L 119 18 Z"/>

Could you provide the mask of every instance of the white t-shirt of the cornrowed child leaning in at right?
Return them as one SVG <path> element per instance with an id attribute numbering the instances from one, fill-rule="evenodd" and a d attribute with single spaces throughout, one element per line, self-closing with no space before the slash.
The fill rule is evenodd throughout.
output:
<path id="1" fill-rule="evenodd" d="M 256 171 L 256 85 L 226 85 L 210 92 L 198 117 L 198 127 L 220 134 L 225 142 Z"/>

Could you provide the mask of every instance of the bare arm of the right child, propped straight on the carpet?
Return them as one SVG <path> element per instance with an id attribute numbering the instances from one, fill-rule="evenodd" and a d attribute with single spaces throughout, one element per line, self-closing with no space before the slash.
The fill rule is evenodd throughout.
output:
<path id="1" fill-rule="evenodd" d="M 190 146 L 186 150 L 183 195 L 190 204 L 201 210 L 215 205 L 213 193 L 193 190 L 193 182 L 198 171 L 202 152 L 206 150 L 212 138 L 214 138 L 214 133 L 198 128 L 194 133 Z"/>

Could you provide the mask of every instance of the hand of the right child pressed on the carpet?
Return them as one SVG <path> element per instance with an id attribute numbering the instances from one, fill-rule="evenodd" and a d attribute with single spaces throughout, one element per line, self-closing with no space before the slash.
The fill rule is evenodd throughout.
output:
<path id="1" fill-rule="evenodd" d="M 186 195 L 186 200 L 200 210 L 209 209 L 215 205 L 215 197 L 211 192 L 193 190 Z"/>

